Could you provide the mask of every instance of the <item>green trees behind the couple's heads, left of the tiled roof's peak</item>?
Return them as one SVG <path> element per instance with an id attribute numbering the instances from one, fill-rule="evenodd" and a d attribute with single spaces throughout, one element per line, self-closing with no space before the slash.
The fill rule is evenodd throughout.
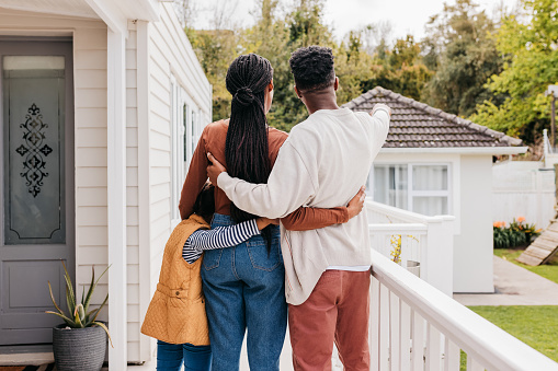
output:
<path id="1" fill-rule="evenodd" d="M 285 9 L 283 16 L 277 15 L 281 3 Z M 350 32 L 338 43 L 324 23 L 323 8 L 324 0 L 298 0 L 288 5 L 280 0 L 259 0 L 253 14 L 254 25 L 236 30 L 194 31 L 186 20 L 186 34 L 213 84 L 214 120 L 230 114 L 230 94 L 225 88 L 227 68 L 238 55 L 247 53 L 267 58 L 274 69 L 273 105 L 267 115 L 270 125 L 289 131 L 304 120 L 308 113 L 294 92 L 288 59 L 292 51 L 308 45 L 333 49 L 335 73 L 340 80 L 339 104 L 376 85 L 420 98 L 432 72 L 421 62 L 421 48 L 412 36 L 397 40 L 392 49 L 382 38 L 371 49 L 365 38 L 378 30 L 369 25 Z"/>

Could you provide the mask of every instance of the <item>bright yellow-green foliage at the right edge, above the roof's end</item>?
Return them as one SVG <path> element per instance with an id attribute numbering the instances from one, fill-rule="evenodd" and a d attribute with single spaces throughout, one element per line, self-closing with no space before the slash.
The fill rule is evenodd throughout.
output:
<path id="1" fill-rule="evenodd" d="M 503 70 L 490 79 L 492 96 L 470 119 L 533 143 L 549 127 L 550 100 L 544 92 L 558 82 L 558 2 L 523 0 L 522 5 L 497 33 Z"/>

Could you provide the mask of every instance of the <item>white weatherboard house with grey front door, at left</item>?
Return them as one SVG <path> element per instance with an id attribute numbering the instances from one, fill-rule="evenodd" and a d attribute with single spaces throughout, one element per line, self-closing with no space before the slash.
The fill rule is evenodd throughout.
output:
<path id="1" fill-rule="evenodd" d="M 158 0 L 0 0 L 0 346 L 50 343 L 60 259 L 110 293 L 112 370 L 152 357 L 139 328 L 212 86 Z"/>

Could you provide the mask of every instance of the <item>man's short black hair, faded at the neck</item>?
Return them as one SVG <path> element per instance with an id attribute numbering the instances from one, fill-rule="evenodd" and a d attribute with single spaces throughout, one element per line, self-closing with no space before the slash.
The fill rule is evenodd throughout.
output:
<path id="1" fill-rule="evenodd" d="M 331 48 L 317 45 L 298 48 L 291 54 L 288 63 L 298 90 L 322 90 L 335 81 Z"/>

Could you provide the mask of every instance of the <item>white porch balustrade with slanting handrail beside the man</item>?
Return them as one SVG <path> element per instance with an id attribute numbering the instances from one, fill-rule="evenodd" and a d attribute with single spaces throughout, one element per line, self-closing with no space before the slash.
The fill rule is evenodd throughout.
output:
<path id="1" fill-rule="evenodd" d="M 558 371 L 558 363 L 452 299 L 453 217 L 372 201 L 366 210 L 374 262 L 371 370 L 458 371 L 464 357 L 467 371 Z M 400 264 L 392 262 L 394 245 L 401 248 Z M 409 262 L 420 264 L 420 278 L 403 268 Z M 337 353 L 332 366 L 342 370 Z"/>

